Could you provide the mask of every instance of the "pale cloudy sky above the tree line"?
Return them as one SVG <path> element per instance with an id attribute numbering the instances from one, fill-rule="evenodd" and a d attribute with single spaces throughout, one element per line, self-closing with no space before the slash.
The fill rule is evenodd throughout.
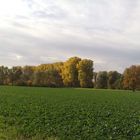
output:
<path id="1" fill-rule="evenodd" d="M 140 64 L 140 0 L 0 0 L 0 65 L 73 56 L 95 71 Z"/>

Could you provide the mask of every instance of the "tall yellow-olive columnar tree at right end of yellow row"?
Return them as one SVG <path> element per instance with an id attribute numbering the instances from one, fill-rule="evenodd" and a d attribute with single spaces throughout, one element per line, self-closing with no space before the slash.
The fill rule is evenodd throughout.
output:
<path id="1" fill-rule="evenodd" d="M 83 59 L 79 62 L 77 68 L 80 86 L 84 88 L 93 87 L 93 61 Z"/>

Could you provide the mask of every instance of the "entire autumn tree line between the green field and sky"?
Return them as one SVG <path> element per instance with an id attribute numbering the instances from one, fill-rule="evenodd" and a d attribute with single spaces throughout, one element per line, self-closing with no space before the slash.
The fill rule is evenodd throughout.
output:
<path id="1" fill-rule="evenodd" d="M 38 66 L 0 66 L 0 85 L 140 89 L 140 65 L 117 71 L 93 71 L 93 61 L 79 57 Z"/>

